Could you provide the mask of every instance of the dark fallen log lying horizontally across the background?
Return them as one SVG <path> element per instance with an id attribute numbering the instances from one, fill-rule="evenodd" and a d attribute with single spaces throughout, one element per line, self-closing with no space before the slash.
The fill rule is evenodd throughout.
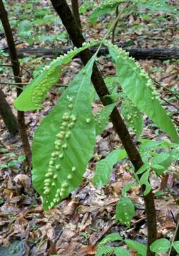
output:
<path id="1" fill-rule="evenodd" d="M 179 59 L 179 48 L 129 48 L 117 43 L 117 46 L 129 51 L 129 55 L 137 60 L 142 59 L 155 59 L 155 60 L 171 60 Z M 59 55 L 67 53 L 71 50 L 70 47 L 62 48 L 17 48 L 18 58 L 27 57 L 29 55 L 35 55 L 36 57 L 55 58 Z M 95 53 L 97 47 L 90 48 L 91 53 Z M 8 51 L 8 49 L 6 49 Z M 99 55 L 108 55 L 108 48 L 102 47 L 98 53 Z"/>

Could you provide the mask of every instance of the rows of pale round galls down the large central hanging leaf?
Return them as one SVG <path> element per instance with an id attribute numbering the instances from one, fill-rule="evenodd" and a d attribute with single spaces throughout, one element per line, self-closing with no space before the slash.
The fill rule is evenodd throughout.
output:
<path id="1" fill-rule="evenodd" d="M 71 129 L 74 127 L 76 122 L 76 117 L 74 114 L 71 114 L 70 110 L 73 109 L 73 98 L 67 97 L 69 101 L 68 109 L 69 112 L 63 114 L 62 125 L 60 126 L 60 132 L 56 135 L 57 139 L 54 142 L 54 151 L 51 154 L 49 161 L 49 168 L 47 174 L 45 174 L 44 181 L 44 194 L 48 195 L 50 193 L 50 187 L 58 186 L 57 184 L 57 174 L 62 169 L 60 160 L 64 158 L 64 151 L 68 148 L 68 139 L 71 137 Z M 57 188 L 57 192 L 54 196 L 53 201 L 50 203 L 49 209 L 52 208 L 55 203 L 58 203 L 64 196 L 67 194 L 69 188 L 69 182 L 73 178 L 73 173 L 76 171 L 75 166 L 71 166 L 71 174 L 67 175 L 67 179 L 62 182 L 60 188 Z M 49 203 L 49 201 L 46 201 Z"/>

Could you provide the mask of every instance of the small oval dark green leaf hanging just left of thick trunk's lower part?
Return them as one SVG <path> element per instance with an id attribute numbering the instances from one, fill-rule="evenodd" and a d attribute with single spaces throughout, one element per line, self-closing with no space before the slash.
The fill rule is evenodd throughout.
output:
<path id="1" fill-rule="evenodd" d="M 120 198 L 120 201 L 117 202 L 116 206 L 116 219 L 119 220 L 120 223 L 127 225 L 129 228 L 130 220 L 134 217 L 134 213 L 134 205 L 130 198 Z"/>

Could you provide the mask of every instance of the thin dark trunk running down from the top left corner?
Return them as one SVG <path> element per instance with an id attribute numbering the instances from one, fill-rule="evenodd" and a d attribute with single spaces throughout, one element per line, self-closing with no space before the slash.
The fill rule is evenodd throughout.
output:
<path id="1" fill-rule="evenodd" d="M 11 58 L 14 80 L 16 83 L 19 84 L 18 86 L 21 87 L 22 80 L 21 80 L 21 74 L 20 74 L 20 65 L 18 62 L 15 43 L 13 41 L 13 33 L 11 31 L 10 23 L 8 22 L 8 14 L 6 12 L 6 9 L 4 7 L 4 3 L 2 0 L 0 0 L 0 18 L 1 18 L 1 23 L 4 27 L 4 32 L 6 34 L 6 40 L 8 43 L 9 55 Z M 21 92 L 22 90 L 20 88 L 17 88 L 17 96 L 20 95 Z M 24 112 L 21 112 L 21 111 L 18 111 L 18 129 L 21 135 L 23 150 L 26 156 L 26 160 L 30 168 L 31 150 L 30 150 L 30 144 L 28 142 L 28 134 L 25 127 Z"/>

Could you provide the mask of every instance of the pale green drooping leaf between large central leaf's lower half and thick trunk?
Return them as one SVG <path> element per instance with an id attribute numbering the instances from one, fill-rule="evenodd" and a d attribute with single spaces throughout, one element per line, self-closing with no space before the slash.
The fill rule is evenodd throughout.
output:
<path id="1" fill-rule="evenodd" d="M 115 149 L 110 152 L 105 159 L 98 161 L 96 164 L 96 174 L 93 178 L 94 186 L 104 186 L 110 181 L 110 174 L 112 171 L 112 166 L 125 159 L 127 153 L 125 149 Z"/>

